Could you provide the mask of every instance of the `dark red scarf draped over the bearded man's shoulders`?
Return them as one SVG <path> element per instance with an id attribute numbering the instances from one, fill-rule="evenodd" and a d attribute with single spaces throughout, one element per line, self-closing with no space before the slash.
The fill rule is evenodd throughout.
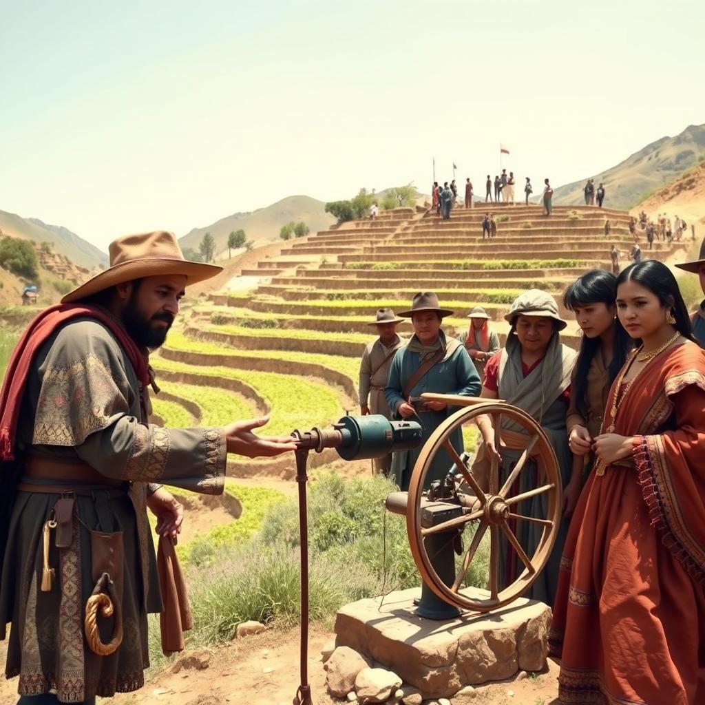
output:
<path id="1" fill-rule="evenodd" d="M 140 350 L 119 321 L 103 309 L 85 304 L 50 306 L 30 321 L 13 350 L 0 391 L 0 458 L 13 460 L 17 440 L 17 423 L 25 394 L 27 376 L 37 352 L 59 326 L 76 318 L 92 318 L 104 324 L 122 345 L 143 386 L 149 384 L 149 353 Z"/>

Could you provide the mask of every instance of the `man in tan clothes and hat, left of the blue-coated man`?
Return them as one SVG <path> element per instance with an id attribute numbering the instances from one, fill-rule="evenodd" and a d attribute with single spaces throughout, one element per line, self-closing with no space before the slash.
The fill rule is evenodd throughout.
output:
<path id="1" fill-rule="evenodd" d="M 374 321 L 369 321 L 368 326 L 375 326 L 379 335 L 372 343 L 367 343 L 362 352 L 360 362 L 360 413 L 362 415 L 382 414 L 388 419 L 392 418 L 384 389 L 389 378 L 389 368 L 396 351 L 402 347 L 403 341 L 398 336 L 396 329 L 404 319 L 397 317 L 391 308 L 377 309 Z M 368 403 L 369 398 L 369 403 Z M 389 474 L 391 467 L 391 454 L 382 458 L 375 458 L 374 472 Z"/>

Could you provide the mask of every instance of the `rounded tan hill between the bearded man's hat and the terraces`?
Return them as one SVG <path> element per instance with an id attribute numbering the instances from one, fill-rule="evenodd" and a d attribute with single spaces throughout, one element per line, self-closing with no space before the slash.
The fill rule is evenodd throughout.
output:
<path id="1" fill-rule="evenodd" d="M 308 196 L 289 196 L 251 213 L 235 213 L 204 228 L 194 228 L 179 239 L 181 247 L 198 249 L 205 233 L 216 240 L 216 257 L 228 251 L 228 234 L 243 229 L 247 240 L 261 245 L 277 240 L 281 226 L 290 221 L 304 221 L 312 233 L 327 230 L 336 219 L 325 212 L 326 204 Z"/>

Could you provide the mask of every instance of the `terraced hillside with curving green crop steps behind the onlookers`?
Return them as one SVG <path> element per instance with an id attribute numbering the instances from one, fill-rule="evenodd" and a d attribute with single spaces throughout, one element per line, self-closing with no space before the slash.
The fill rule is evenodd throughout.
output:
<path id="1" fill-rule="evenodd" d="M 154 360 L 168 393 L 157 414 L 169 424 L 186 417 L 219 423 L 272 408 L 275 433 L 326 424 L 357 408 L 357 370 L 377 308 L 406 309 L 417 291 L 435 290 L 455 310 L 446 331 L 465 329 L 468 310 L 479 304 L 503 339 L 503 314 L 522 290 L 543 288 L 560 305 L 575 277 L 608 268 L 613 243 L 627 262 L 632 236 L 625 212 L 558 207 L 544 218 L 534 205 L 493 210 L 492 240 L 482 240 L 484 209 L 458 208 L 445 222 L 421 209 L 397 209 L 321 231 L 243 270 L 258 285 L 212 293 Z M 664 243 L 644 252 L 664 261 L 671 254 Z M 400 326 L 402 335 L 410 330 Z M 574 324 L 564 338 L 577 345 Z M 293 463 L 240 461 L 230 471 L 290 477 Z"/>

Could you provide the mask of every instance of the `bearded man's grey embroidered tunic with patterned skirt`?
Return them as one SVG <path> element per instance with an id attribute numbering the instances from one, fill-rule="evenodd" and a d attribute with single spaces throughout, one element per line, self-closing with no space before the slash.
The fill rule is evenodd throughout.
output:
<path id="1" fill-rule="evenodd" d="M 147 424 L 140 384 L 121 345 L 98 321 L 77 319 L 54 333 L 32 364 L 18 441 L 25 453 L 87 463 L 123 484 L 75 496 L 71 546 L 59 549 L 51 541 L 49 563 L 56 580 L 47 592 L 39 590 L 42 527 L 59 495 L 18 492 L 0 582 L 0 638 L 12 623 L 6 676 L 20 676 L 20 694 L 56 689 L 60 702 L 135 690 L 144 684 L 142 671 L 149 666 L 147 613 L 161 611 L 147 484 L 220 494 L 226 468 L 223 429 Z M 20 481 L 37 483 L 33 477 Z M 50 484 L 61 483 L 52 479 Z M 95 583 L 91 534 L 96 531 L 123 534 L 124 636 L 118 650 L 104 657 L 88 648 L 83 630 L 85 603 Z M 99 627 L 109 640 L 111 623 L 99 622 Z"/>

